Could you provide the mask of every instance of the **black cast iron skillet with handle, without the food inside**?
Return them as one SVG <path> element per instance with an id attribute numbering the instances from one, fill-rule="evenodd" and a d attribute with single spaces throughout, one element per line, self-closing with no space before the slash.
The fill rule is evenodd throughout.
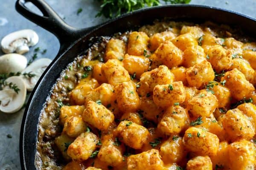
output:
<path id="1" fill-rule="evenodd" d="M 39 16 L 25 3 L 31 2 L 39 8 Z M 20 130 L 20 163 L 23 170 L 35 170 L 35 152 L 38 134 L 38 118 L 49 91 L 67 64 L 88 49 L 92 42 L 90 37 L 109 36 L 116 32 L 126 31 L 134 26 L 152 23 L 155 19 L 169 17 L 173 20 L 204 22 L 211 20 L 241 29 L 256 37 L 256 20 L 236 12 L 219 8 L 198 5 L 170 5 L 145 8 L 130 14 L 122 15 L 96 27 L 78 29 L 68 26 L 44 0 L 17 0 L 16 10 L 27 19 L 55 34 L 61 44 L 58 55 L 39 79 L 27 103 Z"/>

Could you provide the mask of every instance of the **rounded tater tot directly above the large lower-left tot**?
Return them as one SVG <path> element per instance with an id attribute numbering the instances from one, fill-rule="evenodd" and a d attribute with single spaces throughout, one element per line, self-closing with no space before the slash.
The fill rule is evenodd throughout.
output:
<path id="1" fill-rule="evenodd" d="M 85 131 L 86 127 L 81 116 L 70 116 L 64 124 L 63 132 L 70 137 L 77 137 Z"/>

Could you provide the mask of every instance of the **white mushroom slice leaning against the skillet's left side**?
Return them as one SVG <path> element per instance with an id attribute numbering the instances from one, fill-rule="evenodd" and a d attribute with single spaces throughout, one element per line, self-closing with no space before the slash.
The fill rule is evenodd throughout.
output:
<path id="1" fill-rule="evenodd" d="M 41 58 L 36 60 L 35 62 L 32 62 L 31 65 L 29 65 L 24 71 L 21 73 L 30 73 L 35 74 L 34 77 L 28 77 L 21 75 L 22 79 L 26 83 L 26 88 L 28 91 L 32 91 L 35 87 L 36 83 L 38 82 L 38 79 L 41 77 L 41 75 L 44 73 L 47 66 L 52 62 L 51 59 L 48 58 Z"/>

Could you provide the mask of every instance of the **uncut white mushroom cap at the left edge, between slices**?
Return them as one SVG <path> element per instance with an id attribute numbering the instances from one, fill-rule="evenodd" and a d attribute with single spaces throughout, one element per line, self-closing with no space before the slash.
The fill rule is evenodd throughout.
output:
<path id="1" fill-rule="evenodd" d="M 5 54 L 0 56 L 0 74 L 23 71 L 26 68 L 27 59 L 20 54 Z"/>

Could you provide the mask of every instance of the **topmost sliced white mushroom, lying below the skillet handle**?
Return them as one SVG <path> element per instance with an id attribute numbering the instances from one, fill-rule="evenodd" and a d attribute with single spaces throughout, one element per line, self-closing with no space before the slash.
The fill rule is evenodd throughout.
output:
<path id="1" fill-rule="evenodd" d="M 24 54 L 29 51 L 30 46 L 34 46 L 37 43 L 38 34 L 31 29 L 23 29 L 3 37 L 1 47 L 4 53 L 13 53 L 16 51 L 18 54 Z"/>

